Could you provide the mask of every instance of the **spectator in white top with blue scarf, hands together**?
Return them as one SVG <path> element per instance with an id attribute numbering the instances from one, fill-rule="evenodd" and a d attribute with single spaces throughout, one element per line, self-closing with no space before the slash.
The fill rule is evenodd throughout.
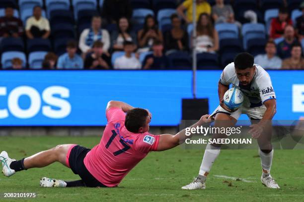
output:
<path id="1" fill-rule="evenodd" d="M 110 35 L 107 30 L 101 29 L 102 19 L 100 16 L 92 17 L 92 27 L 84 29 L 79 38 L 79 49 L 85 55 L 92 51 L 92 46 L 95 41 L 101 41 L 103 50 L 106 54 L 110 48 Z"/>

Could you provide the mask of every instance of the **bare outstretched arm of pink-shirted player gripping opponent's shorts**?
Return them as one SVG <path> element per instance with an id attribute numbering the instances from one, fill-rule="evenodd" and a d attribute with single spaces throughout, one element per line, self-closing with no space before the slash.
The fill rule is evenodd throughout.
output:
<path id="1" fill-rule="evenodd" d="M 198 122 L 196 122 L 190 127 L 196 128 L 197 126 L 210 123 L 212 119 L 208 119 L 208 117 L 209 114 L 202 116 Z M 191 138 L 192 136 L 192 135 L 186 136 L 185 133 L 186 133 L 186 129 L 178 132 L 176 135 L 171 135 L 171 134 L 160 135 L 157 151 L 159 152 L 159 151 L 169 150 L 171 148 L 183 144 L 186 139 Z"/>

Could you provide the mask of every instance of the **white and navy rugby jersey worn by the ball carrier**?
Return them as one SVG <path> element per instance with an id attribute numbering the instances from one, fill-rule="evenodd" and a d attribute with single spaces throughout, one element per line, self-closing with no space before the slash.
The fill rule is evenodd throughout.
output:
<path id="1" fill-rule="evenodd" d="M 243 106 L 256 107 L 270 99 L 276 99 L 269 74 L 260 65 L 254 64 L 256 67 L 253 79 L 247 86 L 241 85 L 234 68 L 234 63 L 228 64 L 221 74 L 220 82 L 223 85 L 230 85 L 240 89 L 244 94 Z"/>

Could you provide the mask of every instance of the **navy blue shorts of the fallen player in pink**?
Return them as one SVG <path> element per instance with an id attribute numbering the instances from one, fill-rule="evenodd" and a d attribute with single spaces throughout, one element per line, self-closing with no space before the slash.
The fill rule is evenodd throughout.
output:
<path id="1" fill-rule="evenodd" d="M 86 169 L 83 159 L 89 151 L 91 149 L 79 145 L 74 146 L 69 155 L 70 168 L 76 175 L 80 176 L 86 187 L 107 187 L 94 178 Z"/>

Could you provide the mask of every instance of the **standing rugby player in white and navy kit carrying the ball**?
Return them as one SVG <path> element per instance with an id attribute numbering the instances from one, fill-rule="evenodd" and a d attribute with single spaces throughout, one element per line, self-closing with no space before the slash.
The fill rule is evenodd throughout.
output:
<path id="1" fill-rule="evenodd" d="M 249 133 L 252 138 L 257 139 L 259 145 L 262 165 L 261 182 L 266 187 L 279 189 L 280 187 L 270 175 L 273 147 L 269 125 L 276 113 L 276 96 L 269 74 L 261 66 L 254 64 L 253 60 L 252 55 L 243 52 L 234 58 L 234 62 L 225 67 L 218 88 L 220 105 L 212 116 L 215 118 L 215 127 L 234 126 L 241 114 L 246 114 L 251 122 L 255 123 L 250 126 Z M 232 87 L 240 89 L 244 95 L 242 106 L 235 111 L 229 110 L 223 102 L 224 94 L 229 89 L 230 84 L 232 84 Z M 225 137 L 220 134 L 213 134 L 213 138 Z M 207 175 L 220 151 L 221 144 L 208 144 L 198 177 L 182 189 L 205 189 Z"/>

